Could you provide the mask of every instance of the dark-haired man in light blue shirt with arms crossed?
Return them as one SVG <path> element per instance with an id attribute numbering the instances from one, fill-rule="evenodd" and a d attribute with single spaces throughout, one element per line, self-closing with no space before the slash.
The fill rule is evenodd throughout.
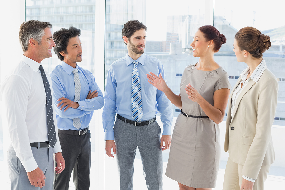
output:
<path id="1" fill-rule="evenodd" d="M 92 73 L 77 65 L 82 61 L 79 29 L 70 26 L 54 32 L 54 52 L 62 61 L 50 73 L 54 87 L 54 107 L 65 170 L 55 174 L 54 189 L 68 189 L 73 170 L 75 189 L 89 189 L 93 111 L 104 105 L 104 98 Z"/>

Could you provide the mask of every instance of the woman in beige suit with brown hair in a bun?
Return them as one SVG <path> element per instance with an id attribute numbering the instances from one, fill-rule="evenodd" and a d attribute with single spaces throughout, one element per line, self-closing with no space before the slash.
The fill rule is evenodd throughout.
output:
<path id="1" fill-rule="evenodd" d="M 237 61 L 248 67 L 230 94 L 225 136 L 229 159 L 223 190 L 262 190 L 275 160 L 271 126 L 278 82 L 262 59 L 271 46 L 270 37 L 245 27 L 235 34 L 233 45 Z"/>

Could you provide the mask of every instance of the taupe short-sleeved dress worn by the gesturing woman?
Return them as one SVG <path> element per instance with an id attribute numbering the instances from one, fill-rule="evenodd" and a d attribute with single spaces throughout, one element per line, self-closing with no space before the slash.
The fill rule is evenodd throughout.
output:
<path id="1" fill-rule="evenodd" d="M 231 89 L 227 72 L 219 67 L 201 71 L 195 65 L 185 68 L 180 96 L 182 111 L 188 115 L 207 116 L 198 103 L 188 98 L 185 91 L 190 83 L 205 100 L 213 105 L 214 91 Z M 172 135 L 165 175 L 196 188 L 214 188 L 220 162 L 220 129 L 211 119 L 185 117 L 179 114 Z"/>

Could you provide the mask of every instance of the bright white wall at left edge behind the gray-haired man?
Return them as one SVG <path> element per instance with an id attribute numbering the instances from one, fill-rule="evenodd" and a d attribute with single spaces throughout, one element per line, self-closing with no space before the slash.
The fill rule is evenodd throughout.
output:
<path id="1" fill-rule="evenodd" d="M 13 7 L 13 9 L 11 9 Z M 19 28 L 21 23 L 25 21 L 25 1 L 1 1 L 0 6 L 0 63 L 1 63 L 1 83 L 4 81 L 7 71 L 11 70 L 19 63 L 22 48 L 19 43 Z M 4 162 L 6 162 L 6 152 L 11 144 L 7 135 L 7 119 L 6 111 L 3 109 L 2 99 L 0 100 L 0 116 L 3 126 L 3 152 Z M 4 165 L 7 169 L 7 165 Z M 8 173 L 8 172 L 7 172 Z"/>

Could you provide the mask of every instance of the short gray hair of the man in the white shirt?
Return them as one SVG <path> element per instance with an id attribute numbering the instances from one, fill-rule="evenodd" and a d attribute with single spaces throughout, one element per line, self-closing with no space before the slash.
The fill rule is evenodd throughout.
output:
<path id="1" fill-rule="evenodd" d="M 42 22 L 37 20 L 25 21 L 20 26 L 19 41 L 22 46 L 23 52 L 28 50 L 29 40 L 32 38 L 40 45 L 42 36 L 45 35 L 44 30 L 52 28 L 49 22 Z"/>

